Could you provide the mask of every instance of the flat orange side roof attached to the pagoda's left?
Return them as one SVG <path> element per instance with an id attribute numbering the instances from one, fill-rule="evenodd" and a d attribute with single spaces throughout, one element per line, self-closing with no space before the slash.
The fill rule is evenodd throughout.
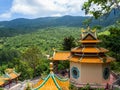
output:
<path id="1" fill-rule="evenodd" d="M 70 55 L 70 52 L 55 52 L 52 60 L 68 60 Z"/>

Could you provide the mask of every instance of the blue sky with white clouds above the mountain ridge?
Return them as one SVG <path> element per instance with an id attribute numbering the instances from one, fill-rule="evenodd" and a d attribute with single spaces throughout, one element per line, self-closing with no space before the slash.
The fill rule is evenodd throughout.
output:
<path id="1" fill-rule="evenodd" d="M 15 18 L 84 16 L 86 0 L 0 0 L 0 21 Z"/>

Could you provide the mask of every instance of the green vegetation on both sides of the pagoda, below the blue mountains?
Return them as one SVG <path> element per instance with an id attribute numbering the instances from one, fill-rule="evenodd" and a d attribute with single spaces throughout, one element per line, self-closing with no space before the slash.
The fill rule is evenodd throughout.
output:
<path id="1" fill-rule="evenodd" d="M 4 28 L 4 27 L 1 27 Z M 120 71 L 120 22 L 108 27 L 98 27 L 98 37 L 103 42 L 101 47 L 110 50 L 110 56 L 116 58 L 117 62 L 112 63 L 111 69 Z M 11 32 L 11 30 L 13 32 Z M 65 38 L 73 40 L 74 46 L 79 45 L 81 27 L 55 26 L 46 28 L 33 28 L 33 32 L 20 33 L 16 29 L 4 29 L 0 33 L 0 74 L 6 68 L 15 68 L 21 72 L 20 80 L 42 76 L 49 72 L 49 60 L 46 55 L 52 56 L 53 48 L 65 50 Z M 21 31 L 22 30 L 22 31 Z M 27 29 L 29 30 L 29 29 Z M 32 30 L 32 29 L 31 29 Z M 9 32 L 8 32 L 9 31 Z M 15 32 L 15 33 L 14 33 Z M 25 31 L 26 32 L 26 31 Z M 69 62 L 59 62 L 58 69 L 69 68 Z"/>

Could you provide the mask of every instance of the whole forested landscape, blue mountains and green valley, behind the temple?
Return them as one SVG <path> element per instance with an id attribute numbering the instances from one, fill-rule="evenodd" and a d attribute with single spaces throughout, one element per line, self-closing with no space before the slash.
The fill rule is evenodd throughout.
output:
<path id="1" fill-rule="evenodd" d="M 113 63 L 111 68 L 119 72 L 120 22 L 119 16 L 116 17 L 118 18 L 116 20 L 112 15 L 110 19 L 113 18 L 113 20 L 104 17 L 104 19 L 92 22 L 92 25 L 97 26 L 97 22 L 98 25 L 103 26 L 114 24 L 103 28 L 98 27 L 97 32 L 100 32 L 99 38 L 103 40 L 101 46 L 109 49 L 108 54 L 118 61 Z M 3 72 L 6 68 L 16 68 L 21 72 L 21 80 L 40 76 L 45 71 L 48 72 L 49 61 L 43 56 L 46 54 L 52 56 L 53 48 L 63 49 L 62 44 L 65 37 L 74 37 L 75 44 L 78 44 L 80 30 L 83 27 L 82 21 L 85 19 L 84 17 L 64 16 L 0 22 L 0 71 Z M 116 21 L 117 23 L 115 23 Z M 58 68 L 60 70 L 68 67 L 68 63 L 61 62 Z"/>

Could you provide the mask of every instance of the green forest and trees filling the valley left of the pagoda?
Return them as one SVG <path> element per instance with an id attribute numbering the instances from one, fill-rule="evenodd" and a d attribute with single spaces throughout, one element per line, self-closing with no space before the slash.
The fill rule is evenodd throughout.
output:
<path id="1" fill-rule="evenodd" d="M 20 80 L 41 76 L 44 72 L 49 73 L 49 61 L 44 56 L 46 54 L 52 55 L 53 47 L 62 49 L 64 37 L 68 35 L 79 36 L 79 29 L 54 27 L 42 29 L 36 33 L 2 38 L 0 71 L 4 73 L 6 68 L 15 68 L 17 72 L 21 72 Z M 68 67 L 67 65 L 69 64 L 65 63 L 64 68 Z"/>

